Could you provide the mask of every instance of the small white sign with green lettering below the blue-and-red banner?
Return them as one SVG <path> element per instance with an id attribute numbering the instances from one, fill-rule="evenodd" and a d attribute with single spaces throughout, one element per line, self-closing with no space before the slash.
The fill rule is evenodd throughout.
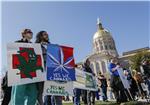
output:
<path id="1" fill-rule="evenodd" d="M 46 81 L 44 95 L 73 96 L 73 82 Z"/>

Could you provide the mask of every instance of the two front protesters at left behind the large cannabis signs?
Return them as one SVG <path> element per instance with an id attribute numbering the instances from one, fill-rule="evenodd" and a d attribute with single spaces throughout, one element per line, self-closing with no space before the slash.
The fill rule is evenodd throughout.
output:
<path id="1" fill-rule="evenodd" d="M 22 39 L 15 43 L 32 43 L 33 32 L 31 29 L 24 29 Z M 47 45 L 50 43 L 48 33 L 40 31 L 36 35 L 35 43 L 40 43 L 43 53 L 44 66 L 46 67 L 46 51 Z M 60 96 L 45 96 L 43 97 L 44 82 L 30 83 L 25 85 L 16 85 L 8 87 L 7 73 L 2 82 L 4 98 L 2 105 L 62 105 L 62 97 Z"/>

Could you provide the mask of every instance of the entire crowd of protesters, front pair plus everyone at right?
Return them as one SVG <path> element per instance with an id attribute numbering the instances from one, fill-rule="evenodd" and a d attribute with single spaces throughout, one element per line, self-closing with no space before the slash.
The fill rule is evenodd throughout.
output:
<path id="1" fill-rule="evenodd" d="M 24 29 L 21 34 L 22 39 L 15 43 L 32 43 L 31 39 L 33 37 L 33 32 L 31 29 Z M 41 44 L 44 66 L 46 67 L 46 51 L 47 45 L 50 43 L 48 33 L 46 31 L 38 32 L 35 43 Z M 102 97 L 102 100 L 105 102 L 108 102 L 110 99 L 116 99 L 117 103 L 122 103 L 130 100 L 137 100 L 139 97 L 147 98 L 150 95 L 150 62 L 147 60 L 143 61 L 142 64 L 144 70 L 143 73 L 137 71 L 131 72 L 131 70 L 123 69 L 124 75 L 130 85 L 130 89 L 124 88 L 119 77 L 117 70 L 118 68 L 121 68 L 121 65 L 117 59 L 113 58 L 110 61 L 108 67 L 110 78 L 106 78 L 102 73 L 99 73 L 98 75 L 94 74 L 90 68 L 89 59 L 86 59 L 82 66 L 85 72 L 95 76 L 98 90 L 73 89 L 74 105 L 81 105 L 81 101 L 83 101 L 84 105 L 95 105 L 95 100 L 100 100 L 100 97 Z M 8 87 L 6 72 L 1 86 L 4 93 L 2 105 L 8 105 L 9 103 L 10 105 L 62 105 L 62 96 L 43 96 L 44 82 Z M 147 89 L 144 88 L 145 86 L 147 86 Z M 70 101 L 69 96 L 66 96 L 66 101 Z"/>

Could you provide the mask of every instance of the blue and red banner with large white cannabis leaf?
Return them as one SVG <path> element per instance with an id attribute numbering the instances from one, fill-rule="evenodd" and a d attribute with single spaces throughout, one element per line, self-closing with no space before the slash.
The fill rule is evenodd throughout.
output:
<path id="1" fill-rule="evenodd" d="M 47 80 L 75 81 L 73 48 L 49 44 L 47 47 Z"/>

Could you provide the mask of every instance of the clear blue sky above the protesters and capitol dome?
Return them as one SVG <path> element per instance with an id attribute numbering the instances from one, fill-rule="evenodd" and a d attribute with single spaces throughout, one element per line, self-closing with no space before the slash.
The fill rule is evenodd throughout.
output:
<path id="1" fill-rule="evenodd" d="M 122 52 L 149 46 L 150 2 L 3 2 L 2 65 L 6 43 L 21 38 L 31 28 L 35 35 L 46 30 L 52 43 L 74 47 L 76 62 L 92 53 L 92 39 L 100 17 Z"/>

